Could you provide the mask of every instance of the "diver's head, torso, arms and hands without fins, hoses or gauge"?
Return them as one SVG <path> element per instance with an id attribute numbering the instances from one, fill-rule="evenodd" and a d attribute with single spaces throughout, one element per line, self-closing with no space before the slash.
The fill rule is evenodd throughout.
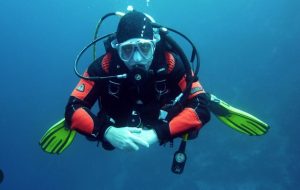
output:
<path id="1" fill-rule="evenodd" d="M 170 112 L 167 106 L 187 85 L 180 57 L 163 47 L 160 40 L 147 15 L 138 11 L 124 15 L 110 42 L 111 48 L 84 75 L 127 77 L 81 79 L 66 106 L 70 129 L 101 141 L 105 148 L 138 150 L 140 146 L 164 144 L 202 128 L 209 121 L 210 112 L 198 80 L 193 81 L 182 110 L 160 119 Z M 90 109 L 97 100 L 100 112 L 96 116 Z"/>

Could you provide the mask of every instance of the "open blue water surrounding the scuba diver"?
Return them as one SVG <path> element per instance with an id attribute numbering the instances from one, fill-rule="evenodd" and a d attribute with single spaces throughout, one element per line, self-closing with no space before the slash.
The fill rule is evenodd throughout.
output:
<path id="1" fill-rule="evenodd" d="M 188 35 L 204 88 L 269 123 L 269 133 L 249 137 L 213 117 L 188 143 L 181 176 L 170 172 L 178 141 L 107 152 L 78 135 L 62 155 L 44 153 L 38 141 L 78 81 L 77 53 L 101 16 L 128 4 Z M 298 0 L 1 0 L 0 189 L 299 189 L 299 10 Z"/>

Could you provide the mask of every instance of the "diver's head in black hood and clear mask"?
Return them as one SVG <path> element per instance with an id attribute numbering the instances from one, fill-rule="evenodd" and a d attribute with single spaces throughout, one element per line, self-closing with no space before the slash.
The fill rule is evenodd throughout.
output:
<path id="1" fill-rule="evenodd" d="M 116 40 L 112 46 L 130 71 L 148 71 L 157 39 L 152 18 L 138 11 L 125 14 L 118 24 Z"/>

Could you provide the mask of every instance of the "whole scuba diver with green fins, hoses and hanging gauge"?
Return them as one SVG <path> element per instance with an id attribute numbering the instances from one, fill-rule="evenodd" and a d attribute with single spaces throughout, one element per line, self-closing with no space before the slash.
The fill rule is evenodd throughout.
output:
<path id="1" fill-rule="evenodd" d="M 112 15 L 121 16 L 117 31 L 97 38 L 101 23 Z M 191 44 L 191 62 L 197 59 L 195 69 L 169 32 Z M 100 40 L 104 40 L 106 52 L 97 58 L 95 45 Z M 94 61 L 81 75 L 78 62 L 91 46 Z M 186 161 L 186 142 L 197 137 L 210 113 L 241 133 L 265 134 L 269 129 L 266 123 L 204 90 L 197 77 L 199 59 L 186 36 L 157 24 L 145 13 L 131 10 L 105 15 L 97 25 L 94 41 L 77 56 L 74 70 L 81 79 L 66 105 L 65 118 L 40 140 L 42 149 L 60 154 L 76 132 L 101 142 L 106 150 L 137 151 L 181 138 L 172 164 L 172 171 L 180 174 Z M 91 111 L 96 102 L 100 108 L 97 115 Z"/>

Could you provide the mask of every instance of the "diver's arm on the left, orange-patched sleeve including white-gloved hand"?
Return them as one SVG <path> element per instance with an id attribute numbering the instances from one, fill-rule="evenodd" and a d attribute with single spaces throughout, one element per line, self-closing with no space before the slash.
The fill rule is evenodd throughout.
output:
<path id="1" fill-rule="evenodd" d="M 96 64 L 95 64 L 96 63 Z M 85 76 L 101 76 L 99 63 L 94 62 Z M 100 73 L 99 73 L 100 72 Z M 99 98 L 103 89 L 101 82 L 81 79 L 73 90 L 66 106 L 65 118 L 68 127 L 88 137 L 90 140 L 102 141 L 103 148 L 112 150 L 138 150 L 140 146 L 149 147 L 143 139 L 135 136 L 140 129 L 133 127 L 114 127 L 114 122 L 103 112 L 97 116 L 91 107 Z"/>

